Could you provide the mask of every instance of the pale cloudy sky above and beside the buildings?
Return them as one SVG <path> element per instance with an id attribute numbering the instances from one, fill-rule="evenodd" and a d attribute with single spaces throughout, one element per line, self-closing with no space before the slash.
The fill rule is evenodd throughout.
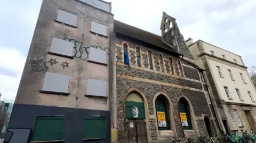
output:
<path id="1" fill-rule="evenodd" d="M 163 11 L 174 17 L 185 40 L 201 39 L 241 55 L 256 66 L 255 0 L 112 0 L 114 19 L 161 35 Z M 0 93 L 13 102 L 17 94 L 42 0 L 1 0 Z"/>

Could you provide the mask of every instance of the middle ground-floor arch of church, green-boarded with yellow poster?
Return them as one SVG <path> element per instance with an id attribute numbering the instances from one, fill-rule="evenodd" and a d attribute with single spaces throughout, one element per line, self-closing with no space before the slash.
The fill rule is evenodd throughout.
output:
<path id="1" fill-rule="evenodd" d="M 171 124 L 169 120 L 169 104 L 166 102 L 167 99 L 163 95 L 159 95 L 156 98 L 156 115 L 157 115 L 157 123 L 158 130 L 170 130 Z"/>

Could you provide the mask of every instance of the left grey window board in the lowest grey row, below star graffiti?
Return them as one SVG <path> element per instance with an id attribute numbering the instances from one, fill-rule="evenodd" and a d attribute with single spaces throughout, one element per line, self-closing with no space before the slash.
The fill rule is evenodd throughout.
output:
<path id="1" fill-rule="evenodd" d="M 46 72 L 43 91 L 68 93 L 69 75 Z"/>

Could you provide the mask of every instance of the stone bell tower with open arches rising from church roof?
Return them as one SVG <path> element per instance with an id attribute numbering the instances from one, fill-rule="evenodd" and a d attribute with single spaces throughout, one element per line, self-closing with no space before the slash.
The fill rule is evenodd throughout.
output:
<path id="1" fill-rule="evenodd" d="M 193 56 L 189 52 L 185 39 L 179 30 L 175 18 L 167 15 L 166 12 L 163 12 L 160 29 L 162 31 L 162 38 L 164 43 L 173 47 L 176 52 L 194 60 Z"/>

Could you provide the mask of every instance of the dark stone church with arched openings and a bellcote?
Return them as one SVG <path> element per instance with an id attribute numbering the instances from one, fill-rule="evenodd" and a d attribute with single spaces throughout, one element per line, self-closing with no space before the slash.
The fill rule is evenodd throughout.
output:
<path id="1" fill-rule="evenodd" d="M 165 12 L 160 29 L 162 36 L 114 20 L 118 142 L 217 134 L 203 70 Z"/>

